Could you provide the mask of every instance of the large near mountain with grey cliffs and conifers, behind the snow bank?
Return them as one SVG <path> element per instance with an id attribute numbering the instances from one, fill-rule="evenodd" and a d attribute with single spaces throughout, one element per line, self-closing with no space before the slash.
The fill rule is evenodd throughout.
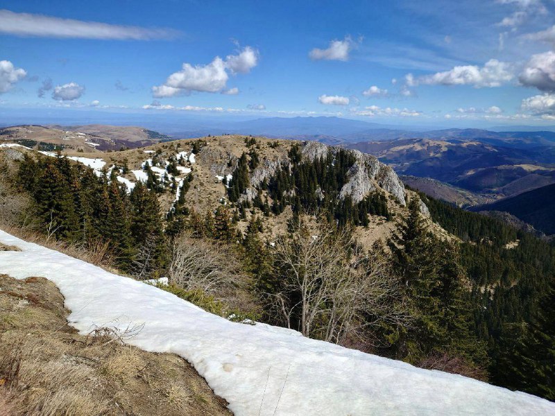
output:
<path id="1" fill-rule="evenodd" d="M 421 157 L 450 151 L 450 141 L 429 142 Z M 465 143 L 469 154 L 493 148 Z M 38 230 L 39 241 L 87 248 L 112 270 L 228 320 L 544 397 L 555 391 L 518 367 L 537 358 L 519 360 L 506 344 L 548 310 L 539 305 L 553 248 L 405 188 L 377 157 L 243 135 L 67 148 L 61 157 L 2 143 L 0 155 L 0 221 Z"/>

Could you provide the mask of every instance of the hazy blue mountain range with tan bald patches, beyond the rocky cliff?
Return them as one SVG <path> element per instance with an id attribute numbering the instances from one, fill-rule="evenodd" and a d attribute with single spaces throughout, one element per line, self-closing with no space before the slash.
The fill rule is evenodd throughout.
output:
<path id="1" fill-rule="evenodd" d="M 346 146 L 376 155 L 402 175 L 429 177 L 493 198 L 514 196 L 555 182 L 553 146 L 497 146 L 481 139 L 457 137 Z"/>

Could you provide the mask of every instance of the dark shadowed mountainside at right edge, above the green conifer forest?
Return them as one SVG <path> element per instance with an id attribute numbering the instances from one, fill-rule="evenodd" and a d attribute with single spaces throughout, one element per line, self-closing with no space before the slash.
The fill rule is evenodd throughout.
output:
<path id="1" fill-rule="evenodd" d="M 555 184 L 472 207 L 473 211 L 504 211 L 533 225 L 545 234 L 555 234 Z"/>

